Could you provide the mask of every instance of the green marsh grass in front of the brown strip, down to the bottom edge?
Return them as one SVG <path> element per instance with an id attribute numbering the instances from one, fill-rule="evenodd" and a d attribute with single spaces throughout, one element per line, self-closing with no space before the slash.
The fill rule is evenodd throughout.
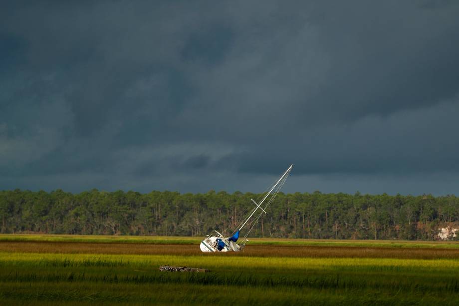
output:
<path id="1" fill-rule="evenodd" d="M 458 281 L 459 260 L 0 253 L 4 305 L 458 305 Z"/>

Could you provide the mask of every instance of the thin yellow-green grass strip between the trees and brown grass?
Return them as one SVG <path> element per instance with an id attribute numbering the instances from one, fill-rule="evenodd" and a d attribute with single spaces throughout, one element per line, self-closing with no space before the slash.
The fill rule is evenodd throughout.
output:
<path id="1" fill-rule="evenodd" d="M 177 236 L 108 236 L 108 235 L 53 235 L 53 234 L 0 234 L 1 241 L 45 241 L 84 243 L 135 244 L 189 244 L 198 245 L 204 237 Z M 250 238 L 247 245 L 285 245 L 317 247 L 375 247 L 375 248 L 452 248 L 459 249 L 457 241 L 400 241 L 400 240 L 320 240 Z"/>

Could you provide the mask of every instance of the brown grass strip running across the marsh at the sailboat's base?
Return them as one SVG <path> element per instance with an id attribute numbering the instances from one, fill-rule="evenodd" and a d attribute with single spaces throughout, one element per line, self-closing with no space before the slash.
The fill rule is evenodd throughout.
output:
<path id="1" fill-rule="evenodd" d="M 63 254 L 208 255 L 197 245 L 146 245 L 68 242 L 0 242 L 0 252 Z M 459 250 L 423 248 L 250 246 L 240 253 L 222 256 L 262 257 L 354 257 L 401 259 L 459 259 Z"/>

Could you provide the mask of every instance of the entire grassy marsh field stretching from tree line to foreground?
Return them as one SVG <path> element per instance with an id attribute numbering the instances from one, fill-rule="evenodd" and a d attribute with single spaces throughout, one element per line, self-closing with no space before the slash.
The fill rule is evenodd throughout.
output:
<path id="1" fill-rule="evenodd" d="M 0 305 L 459 305 L 457 243 L 254 240 L 202 254 L 199 242 L 1 235 Z"/>

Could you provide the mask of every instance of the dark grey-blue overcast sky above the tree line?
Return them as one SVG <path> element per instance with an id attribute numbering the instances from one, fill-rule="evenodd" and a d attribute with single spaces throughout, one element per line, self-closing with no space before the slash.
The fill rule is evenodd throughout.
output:
<path id="1" fill-rule="evenodd" d="M 0 190 L 459 194 L 459 1 L 0 4 Z"/>

